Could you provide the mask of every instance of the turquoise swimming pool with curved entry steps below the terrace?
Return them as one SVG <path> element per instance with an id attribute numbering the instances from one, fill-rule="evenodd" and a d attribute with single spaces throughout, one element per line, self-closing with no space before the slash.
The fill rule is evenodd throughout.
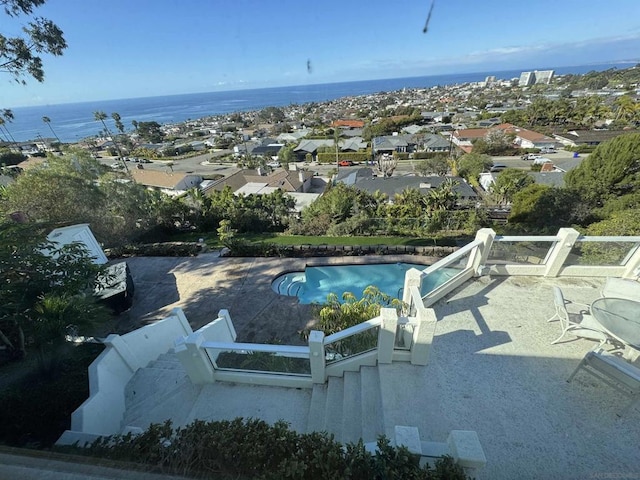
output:
<path id="1" fill-rule="evenodd" d="M 280 295 L 298 297 L 300 303 L 325 303 L 327 295 L 335 293 L 339 298 L 351 292 L 357 298 L 369 285 L 395 298 L 402 298 L 404 276 L 407 270 L 424 270 L 425 265 L 413 263 L 380 263 L 373 265 L 325 265 L 307 267 L 304 272 L 285 273 L 277 277 L 271 288 Z M 459 272 L 446 268 L 427 276 L 422 283 L 422 294 L 430 292 Z"/>

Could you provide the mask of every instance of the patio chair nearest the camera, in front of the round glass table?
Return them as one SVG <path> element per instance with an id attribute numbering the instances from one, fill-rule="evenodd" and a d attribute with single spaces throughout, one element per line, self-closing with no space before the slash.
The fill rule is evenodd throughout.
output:
<path id="1" fill-rule="evenodd" d="M 627 362 L 624 358 L 612 355 L 602 349 L 587 352 L 567 382 L 571 383 L 581 368 L 619 392 L 631 396 L 631 402 L 616 412 L 619 417 L 640 401 L 640 368 Z"/>

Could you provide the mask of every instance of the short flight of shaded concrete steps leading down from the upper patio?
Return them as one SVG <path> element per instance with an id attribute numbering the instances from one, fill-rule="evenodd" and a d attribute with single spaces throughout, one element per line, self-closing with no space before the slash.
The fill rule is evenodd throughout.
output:
<path id="1" fill-rule="evenodd" d="M 377 367 L 329 377 L 314 385 L 309 406 L 307 432 L 326 431 L 342 443 L 360 438 L 374 442 L 384 433 L 380 377 Z"/>

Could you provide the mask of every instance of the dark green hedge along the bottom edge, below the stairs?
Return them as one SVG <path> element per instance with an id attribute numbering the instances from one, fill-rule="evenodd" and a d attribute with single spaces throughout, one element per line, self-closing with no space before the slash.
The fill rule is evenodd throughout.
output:
<path id="1" fill-rule="evenodd" d="M 173 429 L 171 422 L 151 425 L 134 436 L 116 435 L 88 448 L 65 447 L 73 453 L 137 462 L 199 478 L 219 479 L 465 479 L 451 457 L 436 460 L 435 468 L 421 467 L 419 457 L 406 448 L 378 440 L 370 455 L 360 441 L 343 447 L 333 435 L 299 434 L 285 422 L 262 420 L 196 420 Z"/>

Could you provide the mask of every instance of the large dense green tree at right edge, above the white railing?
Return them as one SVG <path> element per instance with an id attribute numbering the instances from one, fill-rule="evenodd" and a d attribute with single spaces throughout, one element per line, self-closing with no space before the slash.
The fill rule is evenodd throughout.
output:
<path id="1" fill-rule="evenodd" d="M 592 207 L 640 190 L 640 134 L 620 135 L 598 145 L 588 158 L 567 173 L 565 184 Z"/>

